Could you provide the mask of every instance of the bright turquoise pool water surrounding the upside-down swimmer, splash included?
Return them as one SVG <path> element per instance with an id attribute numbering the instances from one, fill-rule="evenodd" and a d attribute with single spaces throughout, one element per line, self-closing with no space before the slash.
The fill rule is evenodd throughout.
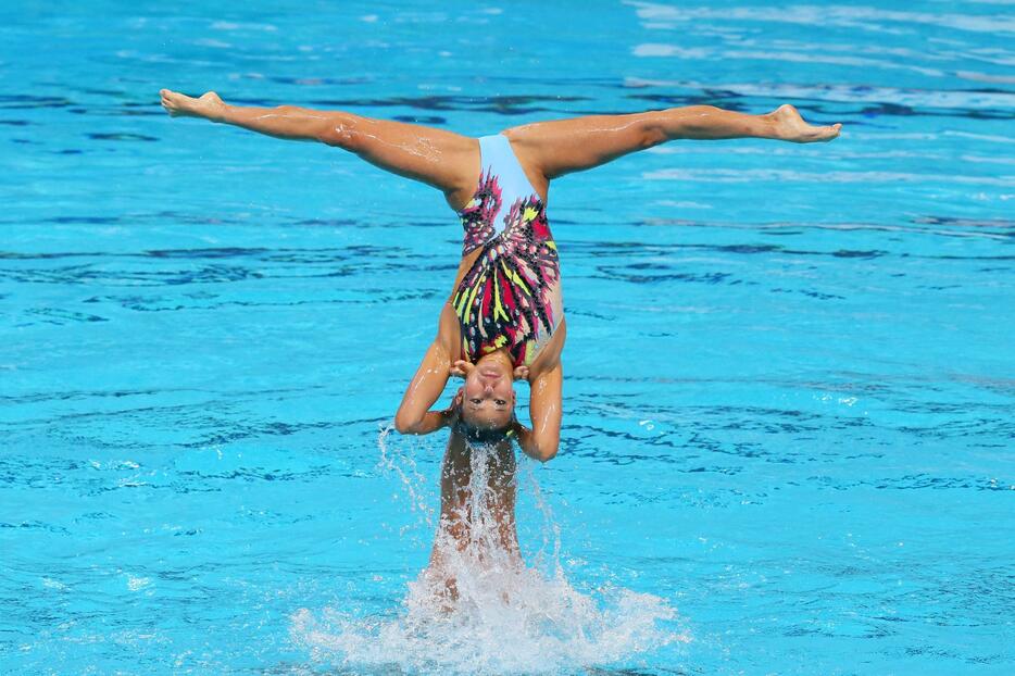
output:
<path id="1" fill-rule="evenodd" d="M 1015 671 L 1012 3 L 298 7 L 0 9 L 0 672 Z M 162 87 L 473 136 L 845 126 L 553 184 L 535 611 L 435 628 L 408 585 L 443 439 L 381 430 L 453 213 Z"/>

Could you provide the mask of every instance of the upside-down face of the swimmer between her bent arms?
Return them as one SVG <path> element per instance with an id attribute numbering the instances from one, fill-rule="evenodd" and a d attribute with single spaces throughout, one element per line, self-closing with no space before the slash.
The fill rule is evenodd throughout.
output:
<path id="1" fill-rule="evenodd" d="M 525 366 L 512 367 L 504 351 L 483 355 L 475 364 L 458 361 L 451 368 L 465 378 L 460 420 L 477 431 L 505 430 L 514 422 L 514 380 L 528 375 Z"/>

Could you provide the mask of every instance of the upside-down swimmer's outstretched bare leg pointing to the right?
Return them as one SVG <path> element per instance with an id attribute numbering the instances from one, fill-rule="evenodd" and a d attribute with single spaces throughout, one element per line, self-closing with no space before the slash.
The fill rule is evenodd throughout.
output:
<path id="1" fill-rule="evenodd" d="M 810 125 L 789 104 L 764 115 L 689 105 L 626 115 L 537 122 L 505 129 L 504 135 L 519 157 L 550 180 L 676 139 L 769 138 L 810 143 L 830 141 L 839 136 L 841 126 Z"/>

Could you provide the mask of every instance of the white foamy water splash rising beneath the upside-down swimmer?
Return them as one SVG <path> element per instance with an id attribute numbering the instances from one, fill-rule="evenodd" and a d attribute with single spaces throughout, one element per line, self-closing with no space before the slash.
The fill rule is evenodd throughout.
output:
<path id="1" fill-rule="evenodd" d="M 437 529 L 431 565 L 409 584 L 392 617 L 356 616 L 340 609 L 308 609 L 292 616 L 293 641 L 315 662 L 355 667 L 356 673 L 556 674 L 629 661 L 685 635 L 659 626 L 676 617 L 663 599 L 614 586 L 589 593 L 575 589 L 561 565 L 560 533 L 535 473 L 515 473 L 542 514 L 541 548 L 521 564 L 503 547 L 502 505 L 489 490 L 492 451 L 471 450 L 469 493 L 460 514 L 467 536 L 452 538 L 435 519 L 427 481 L 411 453 L 391 453 L 379 438 L 381 465 L 402 483 L 413 509 Z M 433 531 L 433 530 L 431 530 Z M 450 587 L 454 593 L 449 593 Z"/>

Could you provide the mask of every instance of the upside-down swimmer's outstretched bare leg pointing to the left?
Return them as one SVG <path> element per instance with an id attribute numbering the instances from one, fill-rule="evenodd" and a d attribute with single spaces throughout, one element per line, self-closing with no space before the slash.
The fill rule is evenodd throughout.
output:
<path id="1" fill-rule="evenodd" d="M 160 93 L 162 107 L 173 117 L 203 117 L 275 138 L 341 148 L 385 171 L 438 188 L 455 210 L 468 202 L 479 179 L 479 142 L 446 129 L 297 105 L 229 105 L 214 91 L 198 99 L 168 89 Z"/>

